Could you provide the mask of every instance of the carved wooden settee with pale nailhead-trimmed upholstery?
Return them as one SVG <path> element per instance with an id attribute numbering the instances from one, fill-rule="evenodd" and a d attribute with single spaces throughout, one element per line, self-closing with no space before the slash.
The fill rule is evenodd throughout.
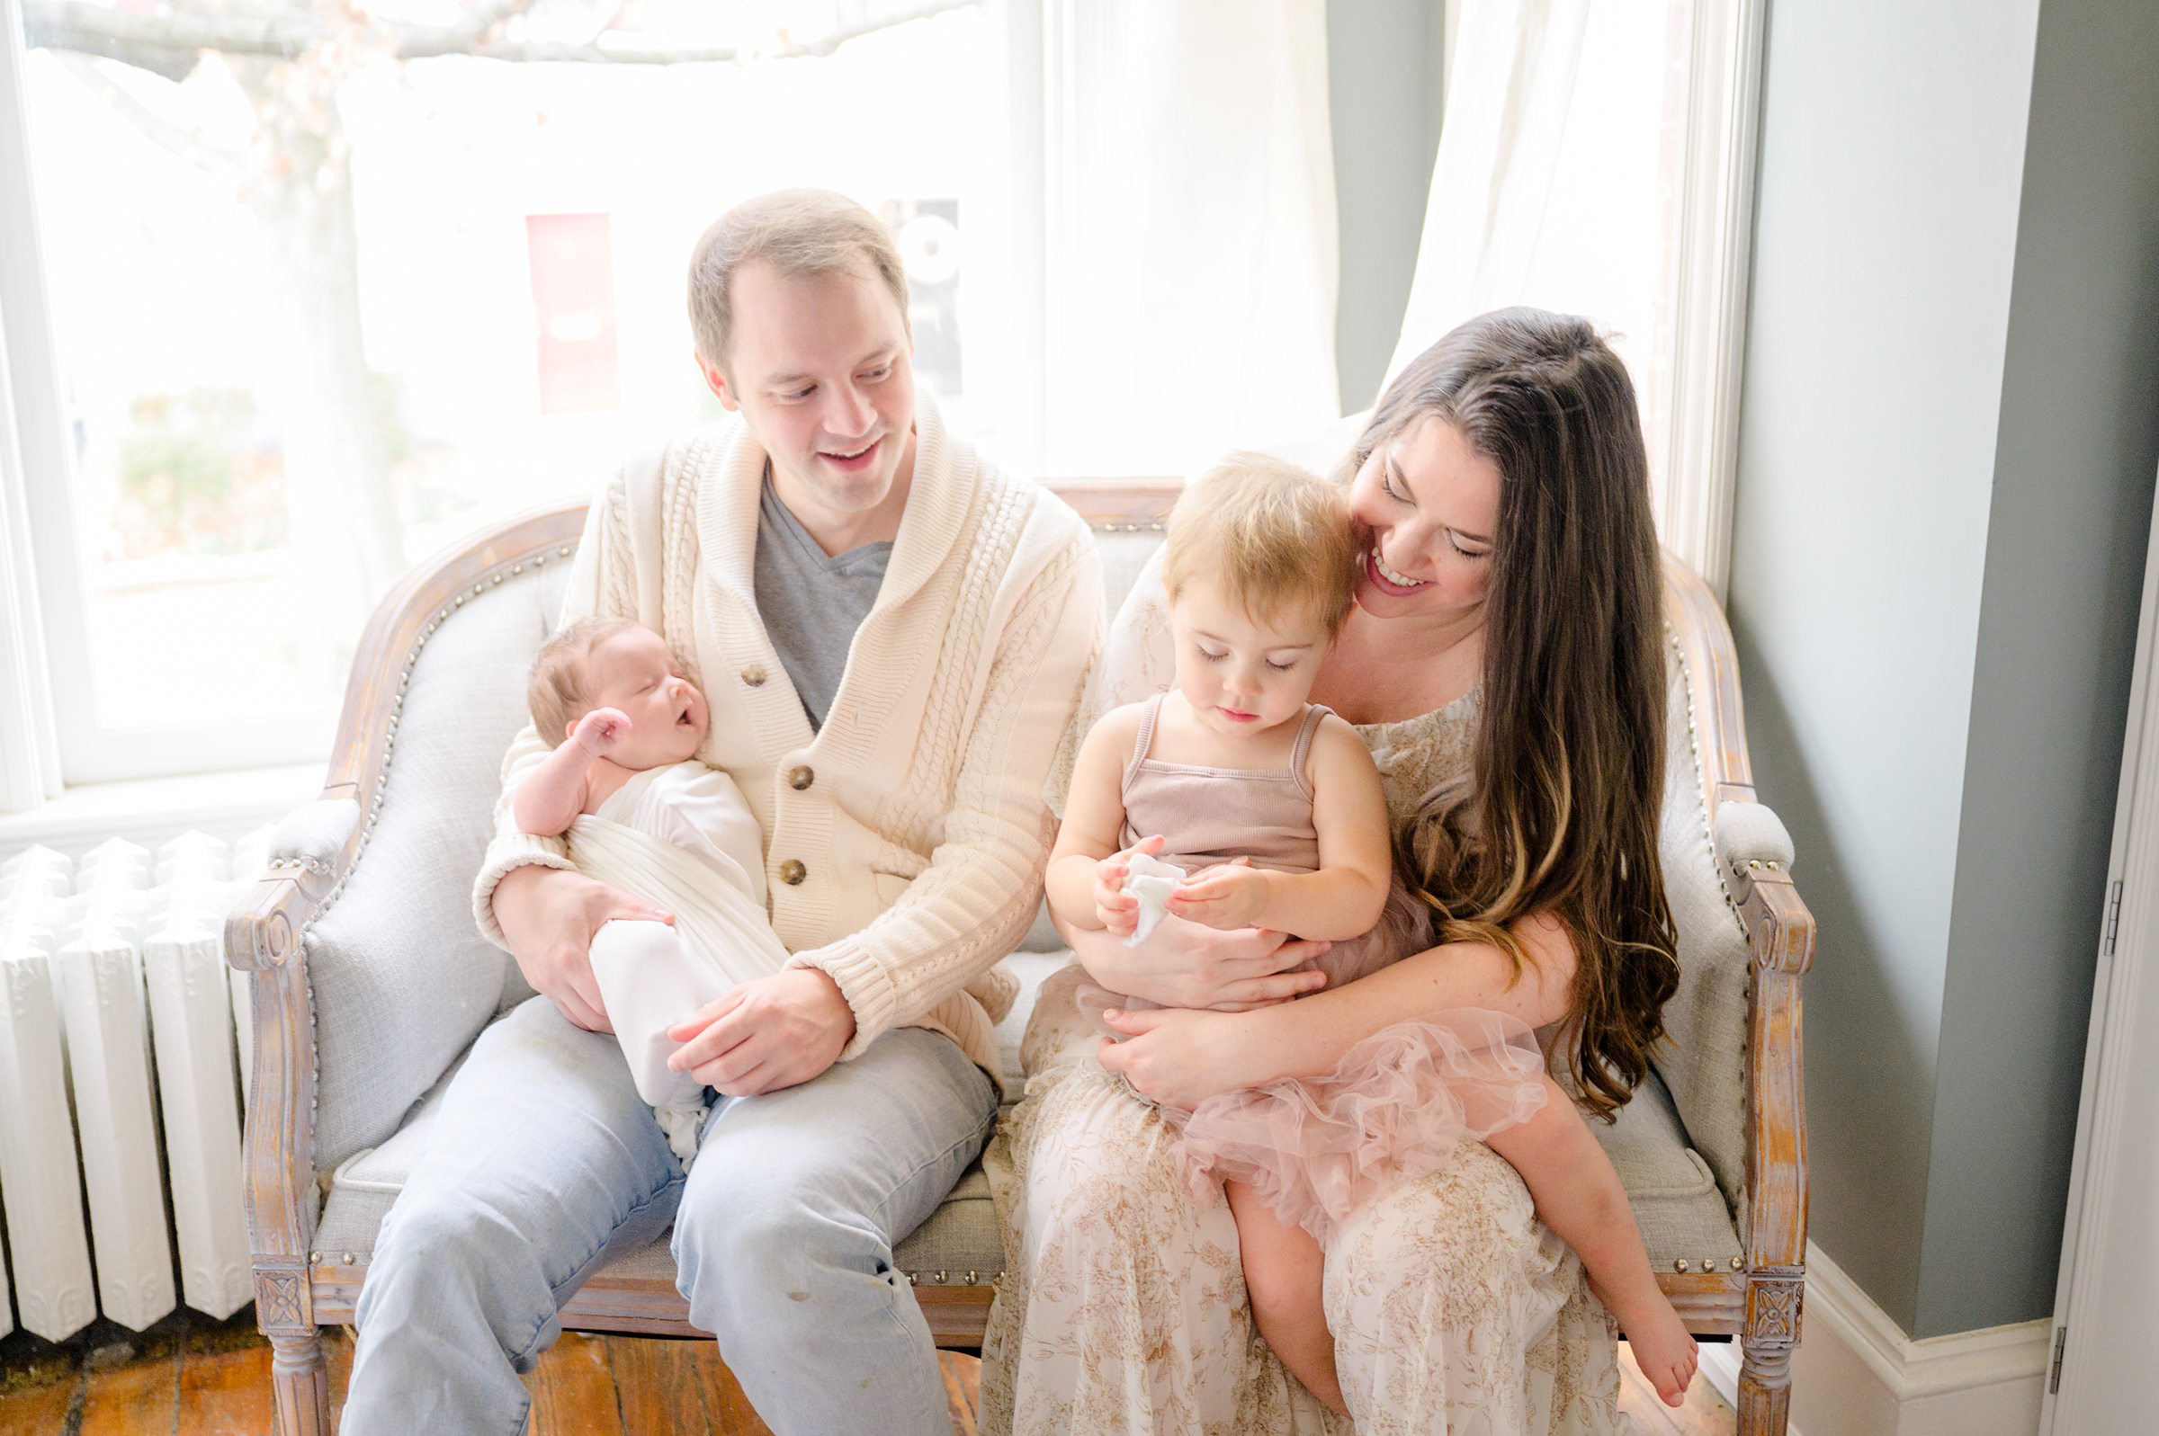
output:
<path id="1" fill-rule="evenodd" d="M 1114 609 L 1159 542 L 1174 482 L 1051 488 L 1092 523 Z M 382 602 L 354 659 L 322 797 L 281 825 L 268 872 L 227 926 L 231 963 L 253 974 L 248 1220 L 287 1436 L 328 1434 L 317 1330 L 352 1319 L 376 1227 L 447 1075 L 488 1021 L 529 995 L 475 931 L 469 881 L 501 754 L 525 721 L 522 676 L 559 611 L 581 525 L 581 505 L 501 525 Z M 1688 1328 L 1742 1341 L 1740 1430 L 1766 1434 L 1785 1425 L 1798 1339 L 1798 985 L 1814 924 L 1792 888 L 1790 840 L 1753 795 L 1723 613 L 1678 561 L 1667 561 L 1665 594 L 1662 859 L 1684 980 L 1656 1078 L 1600 1138 Z M 1067 957 L 1008 959 L 1023 985 L 1000 1026 L 1010 1093 L 1032 991 Z M 900 1244 L 898 1263 L 939 1343 L 976 1345 L 1002 1268 L 978 1168 Z M 665 1239 L 598 1272 L 561 1324 L 689 1335 Z"/>

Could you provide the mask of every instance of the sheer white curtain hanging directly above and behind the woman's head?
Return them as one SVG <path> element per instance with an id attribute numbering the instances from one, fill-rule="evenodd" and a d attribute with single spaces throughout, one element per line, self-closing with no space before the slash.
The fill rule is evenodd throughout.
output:
<path id="1" fill-rule="evenodd" d="M 1736 365 L 1725 339 L 1738 333 L 1736 309 L 1697 320 L 1690 300 L 1699 311 L 1699 281 L 1742 261 L 1744 225 L 1690 231 L 1686 203 L 1744 216 L 1734 186 L 1751 166 L 1729 160 L 1753 138 L 1725 58 L 1749 35 L 1732 11 L 1732 0 L 1462 0 L 1416 276 L 1388 365 L 1393 378 L 1462 320 L 1505 304 L 1587 315 L 1634 376 L 1665 538 L 1706 572 L 1721 566 L 1721 544 L 1675 531 L 1673 482 L 1712 482 L 1719 464 L 1701 456 L 1703 425 L 1675 428 L 1673 415 L 1695 371 Z M 1690 244 L 1690 233 L 1706 238 Z M 1703 341 L 1688 350 L 1688 333 Z"/>

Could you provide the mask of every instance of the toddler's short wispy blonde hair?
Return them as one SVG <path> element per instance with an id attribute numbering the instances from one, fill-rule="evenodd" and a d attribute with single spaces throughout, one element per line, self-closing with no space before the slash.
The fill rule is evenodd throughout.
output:
<path id="1" fill-rule="evenodd" d="M 1315 613 L 1341 633 L 1356 596 L 1356 536 L 1343 490 L 1265 453 L 1231 453 L 1170 510 L 1162 587 L 1170 600 L 1194 579 L 1257 620 Z"/>

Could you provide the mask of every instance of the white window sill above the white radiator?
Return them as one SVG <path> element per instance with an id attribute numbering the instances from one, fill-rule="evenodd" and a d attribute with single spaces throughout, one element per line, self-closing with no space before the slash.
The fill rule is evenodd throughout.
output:
<path id="1" fill-rule="evenodd" d="M 80 851 L 106 838 L 162 842 L 190 827 L 235 838 L 322 792 L 322 762 L 186 777 L 82 784 L 26 812 L 0 814 L 0 855 L 45 844 Z"/>

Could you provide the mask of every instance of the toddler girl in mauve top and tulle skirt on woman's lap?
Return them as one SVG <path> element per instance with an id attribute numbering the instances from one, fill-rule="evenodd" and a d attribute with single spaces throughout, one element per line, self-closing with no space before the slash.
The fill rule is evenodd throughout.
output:
<path id="1" fill-rule="evenodd" d="M 1423 905 L 1393 883 L 1371 754 L 1306 702 L 1349 613 L 1354 564 L 1341 490 L 1302 469 L 1235 456 L 1185 490 L 1162 564 L 1177 687 L 1103 715 L 1080 749 L 1047 875 L 1062 922 L 1127 941 L 1155 922 L 1332 939 L 1317 959 L 1328 983 L 1425 946 Z M 1164 877 L 1177 881 L 1157 898 Z M 1131 888 L 1153 894 L 1142 903 Z M 1146 1004 L 1084 985 L 1082 1006 Z M 1334 1410 L 1319 1237 L 1382 1186 L 1444 1166 L 1462 1140 L 1485 1140 L 1520 1170 L 1658 1395 L 1684 1399 L 1695 1343 L 1656 1287 L 1619 1175 L 1524 1024 L 1488 1011 L 1416 1017 L 1364 1039 L 1326 1078 L 1164 1116 L 1183 1129 L 1194 1190 L 1222 1183 L 1261 1335 Z"/>

